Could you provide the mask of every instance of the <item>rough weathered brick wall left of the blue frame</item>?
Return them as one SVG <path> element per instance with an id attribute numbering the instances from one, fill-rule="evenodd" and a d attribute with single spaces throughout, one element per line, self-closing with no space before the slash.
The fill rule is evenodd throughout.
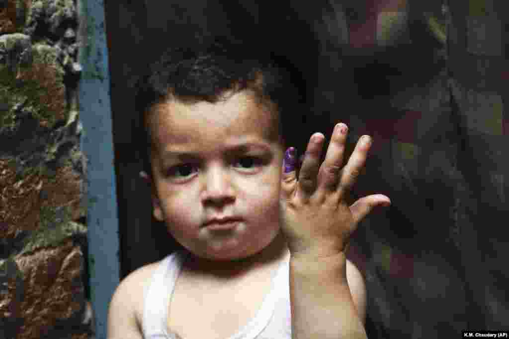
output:
<path id="1" fill-rule="evenodd" d="M 75 93 L 78 25 L 73 0 L 0 1 L 3 338 L 93 333 Z"/>

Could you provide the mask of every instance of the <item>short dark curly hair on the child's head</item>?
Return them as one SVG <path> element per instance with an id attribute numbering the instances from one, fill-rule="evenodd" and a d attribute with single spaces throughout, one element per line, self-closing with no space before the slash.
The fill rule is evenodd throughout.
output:
<path id="1" fill-rule="evenodd" d="M 217 36 L 195 37 L 184 46 L 164 50 L 135 82 L 133 128 L 143 170 L 152 176 L 153 139 L 146 119 L 155 105 L 168 99 L 215 103 L 226 91 L 244 89 L 253 90 L 261 102 L 275 107 L 274 121 L 283 146 L 302 144 L 307 88 L 301 72 L 287 57 L 259 44 Z"/>

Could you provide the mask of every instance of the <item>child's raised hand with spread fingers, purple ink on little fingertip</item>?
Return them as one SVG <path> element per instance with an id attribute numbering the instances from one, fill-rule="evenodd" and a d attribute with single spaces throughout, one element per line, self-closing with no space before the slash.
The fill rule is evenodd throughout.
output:
<path id="1" fill-rule="evenodd" d="M 335 126 L 322 164 L 325 137 L 313 134 L 298 179 L 295 149 L 290 147 L 286 151 L 281 180 L 281 227 L 293 255 L 323 258 L 345 253 L 357 224 L 374 207 L 390 204 L 387 196 L 375 194 L 348 206 L 346 196 L 365 165 L 371 138 L 359 138 L 343 166 L 347 133 L 345 124 Z"/>

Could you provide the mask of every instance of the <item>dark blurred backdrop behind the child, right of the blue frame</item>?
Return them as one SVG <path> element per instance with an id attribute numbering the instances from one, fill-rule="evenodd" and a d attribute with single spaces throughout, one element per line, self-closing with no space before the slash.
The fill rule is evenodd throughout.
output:
<path id="1" fill-rule="evenodd" d="M 360 223 L 350 253 L 366 280 L 369 337 L 509 330 L 503 3 L 106 2 L 121 278 L 175 246 L 138 178 L 137 72 L 165 46 L 214 32 L 291 58 L 308 81 L 306 138 L 329 139 L 337 121 L 350 128 L 350 151 L 361 135 L 374 138 L 354 198 L 382 193 L 392 205 Z M 404 27 L 387 33 L 387 17 Z"/>

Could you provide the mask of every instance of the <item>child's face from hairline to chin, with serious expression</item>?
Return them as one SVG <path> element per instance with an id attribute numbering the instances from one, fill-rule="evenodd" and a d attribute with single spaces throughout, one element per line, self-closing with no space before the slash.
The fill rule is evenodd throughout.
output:
<path id="1" fill-rule="evenodd" d="M 274 113 L 254 98 L 244 90 L 215 104 L 172 100 L 149 118 L 154 216 L 199 257 L 246 258 L 279 232 L 284 149 Z M 225 217 L 241 221 L 228 230 L 204 226 Z"/>

